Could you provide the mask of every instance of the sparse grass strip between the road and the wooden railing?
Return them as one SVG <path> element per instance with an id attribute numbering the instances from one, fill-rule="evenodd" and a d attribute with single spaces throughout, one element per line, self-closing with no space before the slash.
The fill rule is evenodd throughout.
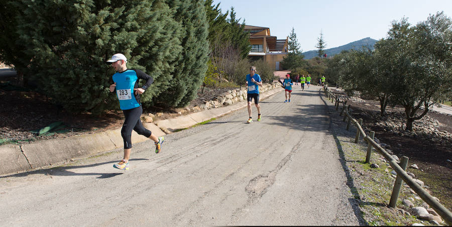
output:
<path id="1" fill-rule="evenodd" d="M 353 143 L 352 137 L 336 137 L 336 143 L 340 154 L 344 155 L 347 167 L 353 179 L 353 187 L 350 188 L 353 197 L 358 199 L 362 211 L 362 217 L 369 225 L 411 225 L 412 223 L 422 223 L 432 225 L 428 221 L 417 219 L 413 215 L 404 215 L 395 208 L 388 207 L 395 178 L 390 174 L 390 168 L 385 162 L 378 159 L 380 154 L 374 150 L 371 163 L 379 165 L 379 168 L 371 168 L 369 163 L 364 163 L 366 159 L 367 144 Z M 388 172 L 385 170 L 388 169 Z M 403 199 L 413 198 L 410 188 L 402 185 L 397 200 L 397 207 L 410 211 L 402 204 Z M 421 206 L 423 200 L 415 200 L 414 206 Z"/>

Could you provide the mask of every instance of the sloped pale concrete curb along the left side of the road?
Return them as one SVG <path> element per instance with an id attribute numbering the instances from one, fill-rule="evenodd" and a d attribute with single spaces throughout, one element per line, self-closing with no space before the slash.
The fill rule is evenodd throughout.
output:
<path id="1" fill-rule="evenodd" d="M 276 87 L 261 93 L 263 100 L 273 94 L 284 91 Z M 189 128 L 198 123 L 226 115 L 247 106 L 247 101 L 240 101 L 233 105 L 220 108 L 212 108 L 200 112 L 191 113 L 174 119 L 156 121 L 154 123 L 143 123 L 156 136 L 166 135 L 164 131 L 174 132 L 176 130 Z M 163 129 L 163 130 L 162 130 Z M 140 143 L 149 140 L 144 136 L 132 132 L 132 143 Z M 52 139 L 38 141 L 23 145 L 0 146 L 0 175 L 19 173 L 40 169 L 49 165 L 63 164 L 71 159 L 80 159 L 105 153 L 110 150 L 123 147 L 121 128 L 107 130 L 105 132 L 73 136 L 65 139 Z"/>

